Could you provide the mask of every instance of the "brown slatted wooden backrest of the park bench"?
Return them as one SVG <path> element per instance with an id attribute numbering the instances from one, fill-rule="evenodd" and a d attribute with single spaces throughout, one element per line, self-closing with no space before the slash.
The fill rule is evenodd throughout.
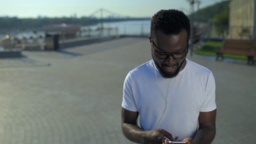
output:
<path id="1" fill-rule="evenodd" d="M 253 51 L 255 46 L 254 40 L 225 40 L 222 50 Z"/>

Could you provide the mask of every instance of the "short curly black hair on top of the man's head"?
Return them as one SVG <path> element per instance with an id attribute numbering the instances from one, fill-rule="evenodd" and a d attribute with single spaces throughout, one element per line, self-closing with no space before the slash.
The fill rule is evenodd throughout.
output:
<path id="1" fill-rule="evenodd" d="M 189 18 L 179 10 L 160 10 L 152 16 L 150 35 L 155 36 L 155 32 L 160 30 L 165 35 L 177 35 L 182 29 L 190 36 Z"/>

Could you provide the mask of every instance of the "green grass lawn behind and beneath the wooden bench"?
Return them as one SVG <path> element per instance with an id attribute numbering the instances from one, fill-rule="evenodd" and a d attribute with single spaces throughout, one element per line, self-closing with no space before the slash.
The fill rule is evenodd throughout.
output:
<path id="1" fill-rule="evenodd" d="M 203 56 L 216 56 L 216 51 L 221 50 L 222 42 L 217 41 L 208 41 L 202 48 L 199 48 L 194 53 Z M 224 59 L 238 59 L 238 60 L 247 60 L 247 56 L 243 55 L 233 55 L 233 54 L 223 54 Z M 253 59 L 256 61 L 256 57 Z"/>

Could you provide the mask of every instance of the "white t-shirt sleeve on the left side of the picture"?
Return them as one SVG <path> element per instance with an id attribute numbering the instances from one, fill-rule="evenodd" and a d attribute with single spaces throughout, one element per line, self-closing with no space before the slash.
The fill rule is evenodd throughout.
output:
<path id="1" fill-rule="evenodd" d="M 131 72 L 125 77 L 125 81 L 123 84 L 123 102 L 122 107 L 129 111 L 137 112 L 137 107 L 134 101 L 134 95 L 132 91 L 131 85 Z"/>

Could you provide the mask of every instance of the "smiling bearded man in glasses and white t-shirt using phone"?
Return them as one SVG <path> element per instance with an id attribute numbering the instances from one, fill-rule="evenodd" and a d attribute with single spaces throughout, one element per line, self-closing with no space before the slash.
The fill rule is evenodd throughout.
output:
<path id="1" fill-rule="evenodd" d="M 215 80 L 210 70 L 186 59 L 189 19 L 181 11 L 161 10 L 150 33 L 152 60 L 124 82 L 125 137 L 141 144 L 210 144 L 216 133 Z"/>

